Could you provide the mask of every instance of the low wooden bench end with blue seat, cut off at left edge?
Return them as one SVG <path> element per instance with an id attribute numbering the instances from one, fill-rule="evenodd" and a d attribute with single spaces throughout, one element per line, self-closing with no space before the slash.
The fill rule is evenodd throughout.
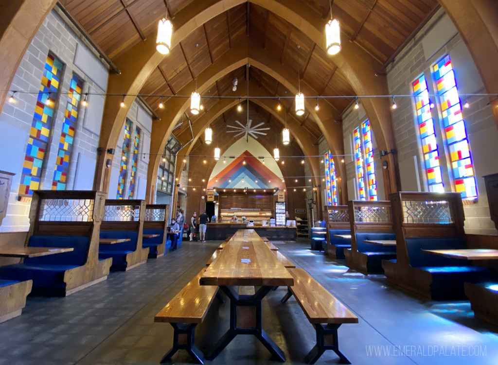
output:
<path id="1" fill-rule="evenodd" d="M 31 280 L 0 279 L 0 323 L 21 315 L 32 285 Z"/>

